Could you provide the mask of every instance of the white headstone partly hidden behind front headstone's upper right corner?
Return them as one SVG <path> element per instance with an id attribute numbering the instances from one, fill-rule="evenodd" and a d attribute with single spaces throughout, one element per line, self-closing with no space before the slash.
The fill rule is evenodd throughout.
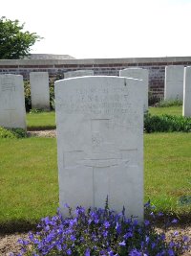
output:
<path id="1" fill-rule="evenodd" d="M 144 86 L 144 99 L 143 107 L 144 111 L 148 110 L 148 93 L 149 93 L 149 73 L 147 69 L 143 68 L 126 68 L 119 71 L 119 77 L 133 78 L 142 80 Z"/>

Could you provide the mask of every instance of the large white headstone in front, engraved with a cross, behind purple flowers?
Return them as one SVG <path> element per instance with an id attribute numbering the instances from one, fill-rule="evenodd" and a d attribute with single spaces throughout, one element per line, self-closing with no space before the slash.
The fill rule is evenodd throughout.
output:
<path id="1" fill-rule="evenodd" d="M 142 81 L 55 81 L 60 207 L 111 209 L 143 219 Z"/>

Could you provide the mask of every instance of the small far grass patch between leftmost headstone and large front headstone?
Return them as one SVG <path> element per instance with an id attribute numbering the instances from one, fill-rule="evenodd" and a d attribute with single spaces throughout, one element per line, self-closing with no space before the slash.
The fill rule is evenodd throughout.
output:
<path id="1" fill-rule="evenodd" d="M 28 130 L 55 128 L 55 112 L 27 113 L 27 128 Z"/>

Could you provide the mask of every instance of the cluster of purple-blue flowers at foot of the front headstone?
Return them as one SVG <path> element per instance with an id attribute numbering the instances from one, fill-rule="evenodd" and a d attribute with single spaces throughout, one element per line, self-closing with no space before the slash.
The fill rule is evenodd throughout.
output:
<path id="1" fill-rule="evenodd" d="M 22 251 L 17 256 L 174 256 L 189 249 L 187 237 L 167 243 L 152 221 L 140 224 L 135 218 L 127 219 L 124 210 L 116 214 L 107 203 L 105 209 L 87 212 L 83 207 L 74 212 L 67 207 L 70 217 L 63 218 L 59 212 L 46 217 L 37 226 L 40 231 L 30 232 L 27 241 L 19 240 Z M 153 213 L 151 216 L 156 218 Z"/>

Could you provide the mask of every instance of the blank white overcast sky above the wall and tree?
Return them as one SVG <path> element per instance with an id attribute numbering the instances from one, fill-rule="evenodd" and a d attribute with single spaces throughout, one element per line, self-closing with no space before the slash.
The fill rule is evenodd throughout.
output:
<path id="1" fill-rule="evenodd" d="M 191 0 L 1 0 L 0 16 L 44 37 L 35 54 L 191 56 Z"/>

